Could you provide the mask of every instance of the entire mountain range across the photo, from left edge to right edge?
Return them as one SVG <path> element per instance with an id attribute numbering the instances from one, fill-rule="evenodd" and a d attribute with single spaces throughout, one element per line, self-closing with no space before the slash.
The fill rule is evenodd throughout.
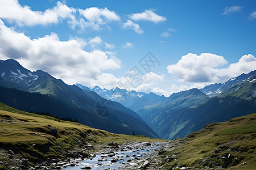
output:
<path id="1" fill-rule="evenodd" d="M 152 92 L 98 86 L 69 86 L 14 59 L 0 60 L 0 102 L 29 112 L 77 119 L 81 124 L 118 134 L 182 138 L 213 122 L 256 112 L 256 71 L 224 83 L 193 88 L 168 97 Z"/>

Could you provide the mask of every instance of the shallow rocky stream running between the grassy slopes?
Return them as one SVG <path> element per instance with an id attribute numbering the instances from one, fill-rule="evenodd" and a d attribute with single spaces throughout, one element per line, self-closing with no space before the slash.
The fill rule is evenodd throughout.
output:
<path id="1" fill-rule="evenodd" d="M 132 147 L 131 147 L 132 146 Z M 134 162 L 144 162 L 154 151 L 159 151 L 161 146 L 158 143 L 135 143 L 134 145 L 119 147 L 117 150 L 99 152 L 94 158 L 80 160 L 76 163 L 65 163 L 56 169 L 76 170 L 76 169 L 125 169 L 125 167 L 137 167 Z M 137 167 L 138 168 L 138 167 Z"/>

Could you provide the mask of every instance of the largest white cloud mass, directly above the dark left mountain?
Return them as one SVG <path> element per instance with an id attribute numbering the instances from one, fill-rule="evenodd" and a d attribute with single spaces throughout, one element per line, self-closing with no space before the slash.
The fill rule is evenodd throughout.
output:
<path id="1" fill-rule="evenodd" d="M 92 42 L 100 40 L 92 39 Z M 104 70 L 120 69 L 113 52 L 82 49 L 81 39 L 60 41 L 56 33 L 31 40 L 24 33 L 7 28 L 0 20 L 0 57 L 14 58 L 30 70 L 41 69 L 68 84 L 96 80 Z"/>

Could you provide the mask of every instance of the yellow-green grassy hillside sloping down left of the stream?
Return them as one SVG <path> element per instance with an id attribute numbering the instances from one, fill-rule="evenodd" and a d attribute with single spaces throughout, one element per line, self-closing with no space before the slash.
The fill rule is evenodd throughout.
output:
<path id="1" fill-rule="evenodd" d="M 0 103 L 0 169 L 15 167 L 19 163 L 14 160 L 27 159 L 25 165 L 29 167 L 47 158 L 73 158 L 77 152 L 80 156 L 88 156 L 110 142 L 133 140 L 150 142 L 161 139 L 113 134 L 75 122 L 18 111 Z"/>

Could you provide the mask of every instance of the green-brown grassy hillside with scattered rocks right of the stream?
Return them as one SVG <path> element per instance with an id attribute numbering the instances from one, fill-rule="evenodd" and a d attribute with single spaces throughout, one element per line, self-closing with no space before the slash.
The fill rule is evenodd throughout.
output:
<path id="1" fill-rule="evenodd" d="M 160 165 L 167 169 L 255 169 L 256 113 L 205 125 L 203 129 L 174 142 L 173 148 L 160 153 Z"/>

